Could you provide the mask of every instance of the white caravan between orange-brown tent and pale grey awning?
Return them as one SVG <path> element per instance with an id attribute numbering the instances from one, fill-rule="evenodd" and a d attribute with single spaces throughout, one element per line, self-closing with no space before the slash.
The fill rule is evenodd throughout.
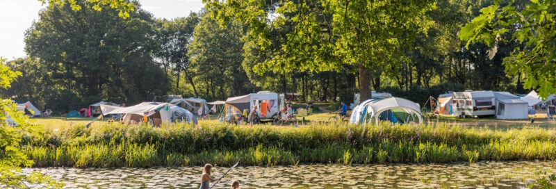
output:
<path id="1" fill-rule="evenodd" d="M 492 91 L 454 92 L 452 104 L 455 115 L 461 117 L 482 117 L 495 115 L 494 93 Z"/>

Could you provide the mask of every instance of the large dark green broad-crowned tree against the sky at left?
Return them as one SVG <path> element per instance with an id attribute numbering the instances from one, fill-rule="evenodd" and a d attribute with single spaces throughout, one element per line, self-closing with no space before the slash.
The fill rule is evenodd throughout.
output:
<path id="1" fill-rule="evenodd" d="M 77 4 L 79 11 L 70 3 L 47 7 L 25 35 L 28 55 L 51 70 L 57 85 L 50 87 L 65 92 L 58 96 L 70 94 L 88 104 L 101 99 L 136 102 L 164 94 L 168 80 L 152 58 L 152 16 L 137 3 L 126 19 L 117 10 L 99 12 L 94 3 Z"/>

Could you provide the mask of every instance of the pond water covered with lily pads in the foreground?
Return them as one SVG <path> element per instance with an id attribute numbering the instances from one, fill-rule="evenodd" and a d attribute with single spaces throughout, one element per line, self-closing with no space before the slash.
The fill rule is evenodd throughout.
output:
<path id="1" fill-rule="evenodd" d="M 199 188 L 202 167 L 149 169 L 31 168 L 65 183 L 65 188 Z M 215 167 L 220 176 L 227 167 Z M 236 167 L 214 188 L 523 188 L 547 174 L 556 161 L 456 164 L 299 165 Z M 42 186 L 32 186 L 42 188 Z"/>

